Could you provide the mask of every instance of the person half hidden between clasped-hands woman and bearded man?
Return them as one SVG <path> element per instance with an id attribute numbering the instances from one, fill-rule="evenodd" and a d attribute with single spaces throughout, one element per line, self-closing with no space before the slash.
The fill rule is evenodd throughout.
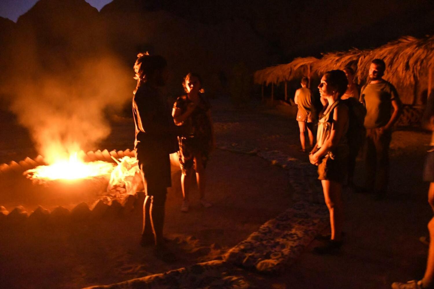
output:
<path id="1" fill-rule="evenodd" d="M 360 148 L 365 140 L 366 130 L 363 125 L 365 122 L 366 108 L 359 102 L 359 93 L 357 84 L 354 82 L 354 70 L 351 67 L 343 69 L 347 76 L 348 86 L 345 93 L 342 95 L 342 102 L 349 109 L 349 127 L 347 133 L 349 156 L 348 156 L 348 179 L 347 185 L 350 188 L 355 188 L 354 172 L 355 163 Z"/>

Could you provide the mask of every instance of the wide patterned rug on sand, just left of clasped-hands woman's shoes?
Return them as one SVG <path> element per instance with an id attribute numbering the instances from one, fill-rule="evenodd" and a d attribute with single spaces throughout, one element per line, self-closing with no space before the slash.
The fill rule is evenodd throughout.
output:
<path id="1" fill-rule="evenodd" d="M 263 273 L 279 271 L 301 255 L 328 218 L 325 205 L 296 203 L 230 249 L 223 259 Z"/>

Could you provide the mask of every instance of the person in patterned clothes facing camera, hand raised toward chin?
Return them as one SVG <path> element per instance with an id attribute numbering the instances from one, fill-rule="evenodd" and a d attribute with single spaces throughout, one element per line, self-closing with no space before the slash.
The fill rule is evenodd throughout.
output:
<path id="1" fill-rule="evenodd" d="M 172 116 L 175 124 L 181 126 L 181 135 L 178 137 L 183 195 L 181 211 L 187 212 L 190 206 L 189 191 L 193 169 L 196 172 L 201 205 L 205 208 L 212 206 L 205 199 L 205 168 L 215 140 L 211 105 L 202 94 L 201 76 L 196 73 L 187 74 L 183 86 L 186 94 L 178 97 L 174 103 Z"/>

